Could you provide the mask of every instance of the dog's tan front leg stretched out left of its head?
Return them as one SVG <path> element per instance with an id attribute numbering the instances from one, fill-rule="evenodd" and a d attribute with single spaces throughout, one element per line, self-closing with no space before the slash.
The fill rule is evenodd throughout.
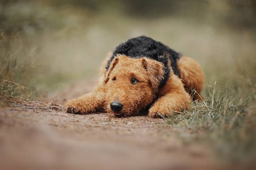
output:
<path id="1" fill-rule="evenodd" d="M 105 88 L 101 85 L 78 99 L 69 100 L 64 108 L 68 113 L 85 114 L 103 110 L 104 103 Z"/>

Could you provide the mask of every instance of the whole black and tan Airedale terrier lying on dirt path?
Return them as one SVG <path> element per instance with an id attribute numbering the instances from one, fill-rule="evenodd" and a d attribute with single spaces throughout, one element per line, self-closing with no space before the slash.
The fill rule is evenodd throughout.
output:
<path id="1" fill-rule="evenodd" d="M 97 88 L 65 104 L 68 113 L 106 111 L 131 116 L 149 108 L 148 116 L 182 112 L 203 89 L 202 69 L 161 42 L 139 36 L 121 43 L 105 63 Z"/>

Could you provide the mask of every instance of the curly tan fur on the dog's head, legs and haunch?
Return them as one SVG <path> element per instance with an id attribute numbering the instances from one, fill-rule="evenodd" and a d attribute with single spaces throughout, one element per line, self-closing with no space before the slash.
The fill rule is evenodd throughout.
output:
<path id="1" fill-rule="evenodd" d="M 78 99 L 69 100 L 64 107 L 69 113 L 85 114 L 105 110 L 108 114 L 115 114 L 110 103 L 118 101 L 123 104 L 118 113 L 131 116 L 154 102 L 148 116 L 161 117 L 182 112 L 189 108 L 191 102 L 184 86 L 187 89 L 196 88 L 199 93 L 202 90 L 200 67 L 192 71 L 197 64 L 193 59 L 181 57 L 178 61 L 181 79 L 171 71 L 166 84 L 159 87 L 165 74 L 162 63 L 146 57 L 135 59 L 116 55 L 109 70 L 103 71 L 98 87 Z M 138 81 L 131 83 L 132 79 Z"/>

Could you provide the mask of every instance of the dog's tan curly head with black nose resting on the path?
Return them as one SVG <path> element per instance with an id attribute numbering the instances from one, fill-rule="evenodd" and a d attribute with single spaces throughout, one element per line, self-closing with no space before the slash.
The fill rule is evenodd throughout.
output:
<path id="1" fill-rule="evenodd" d="M 104 79 L 107 112 L 116 116 L 138 113 L 153 102 L 163 77 L 160 62 L 117 55 Z"/>

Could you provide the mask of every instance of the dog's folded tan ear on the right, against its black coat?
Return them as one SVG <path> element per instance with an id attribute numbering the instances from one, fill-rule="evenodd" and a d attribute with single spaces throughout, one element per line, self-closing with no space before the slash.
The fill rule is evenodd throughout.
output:
<path id="1" fill-rule="evenodd" d="M 152 59 L 142 58 L 142 66 L 147 70 L 151 86 L 158 88 L 161 80 L 164 78 L 165 72 L 163 64 Z"/>

